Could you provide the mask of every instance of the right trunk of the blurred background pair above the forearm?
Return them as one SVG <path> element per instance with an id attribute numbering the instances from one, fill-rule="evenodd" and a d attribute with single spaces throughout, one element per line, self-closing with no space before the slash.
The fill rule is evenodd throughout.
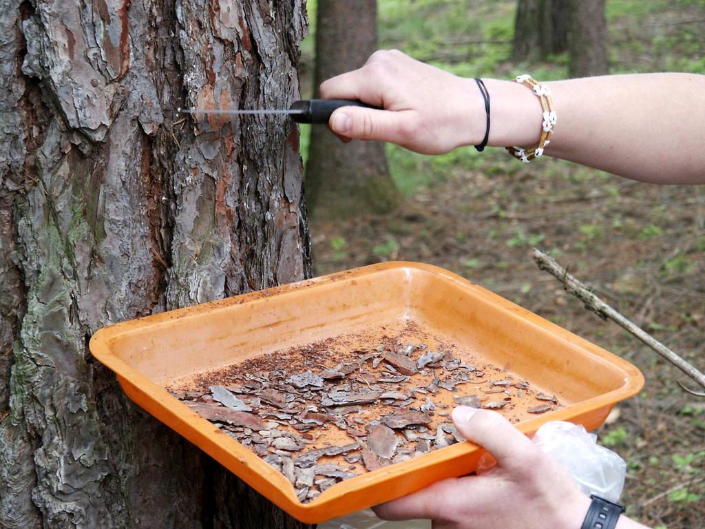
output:
<path id="1" fill-rule="evenodd" d="M 570 0 L 571 77 L 608 73 L 605 0 Z"/>

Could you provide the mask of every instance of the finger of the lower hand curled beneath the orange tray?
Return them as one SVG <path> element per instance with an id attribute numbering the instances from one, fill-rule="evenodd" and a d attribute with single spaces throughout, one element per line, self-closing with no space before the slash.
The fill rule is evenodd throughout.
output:
<path id="1" fill-rule="evenodd" d="M 457 478 L 434 483 L 425 489 L 399 499 L 387 501 L 372 507 L 374 513 L 383 520 L 414 520 L 416 518 L 443 518 L 446 499 L 453 497 L 458 485 Z M 455 494 L 457 494 L 455 490 Z"/>

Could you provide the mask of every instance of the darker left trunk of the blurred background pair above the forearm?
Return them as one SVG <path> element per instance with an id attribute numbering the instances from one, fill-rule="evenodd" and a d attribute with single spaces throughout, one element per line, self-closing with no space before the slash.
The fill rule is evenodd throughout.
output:
<path id="1" fill-rule="evenodd" d="M 513 61 L 542 61 L 568 49 L 570 3 L 518 0 L 512 44 Z"/>

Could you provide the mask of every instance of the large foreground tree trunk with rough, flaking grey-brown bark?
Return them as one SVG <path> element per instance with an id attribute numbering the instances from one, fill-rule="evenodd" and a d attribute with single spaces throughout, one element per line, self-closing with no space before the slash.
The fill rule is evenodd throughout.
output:
<path id="1" fill-rule="evenodd" d="M 300 525 L 128 401 L 100 327 L 310 273 L 302 0 L 0 0 L 0 526 Z M 10 370 L 11 367 L 11 370 Z"/>

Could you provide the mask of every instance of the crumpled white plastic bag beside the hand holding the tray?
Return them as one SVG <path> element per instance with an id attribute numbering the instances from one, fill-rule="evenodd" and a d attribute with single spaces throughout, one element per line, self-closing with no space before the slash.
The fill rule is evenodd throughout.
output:
<path id="1" fill-rule="evenodd" d="M 534 443 L 568 470 L 585 494 L 619 500 L 627 463 L 618 454 L 597 444 L 595 434 L 589 434 L 584 427 L 572 422 L 554 420 L 539 428 Z"/>

